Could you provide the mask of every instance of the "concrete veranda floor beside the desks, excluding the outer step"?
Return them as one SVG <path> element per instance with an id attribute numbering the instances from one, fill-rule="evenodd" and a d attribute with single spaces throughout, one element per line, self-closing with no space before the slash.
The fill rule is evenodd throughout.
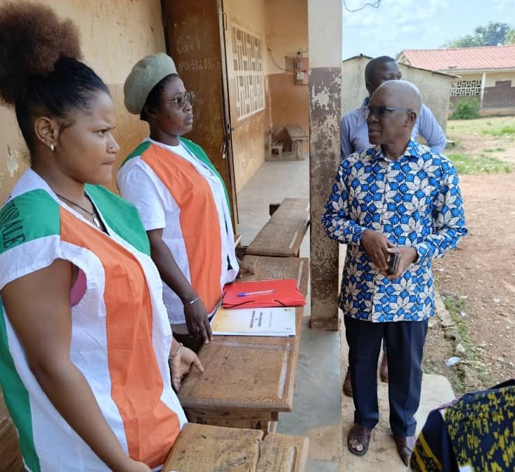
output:
<path id="1" fill-rule="evenodd" d="M 238 193 L 238 232 L 247 245 L 270 218 L 268 204 L 309 196 L 308 160 L 265 162 Z M 309 231 L 300 251 L 309 257 Z M 339 472 L 341 464 L 340 336 L 309 328 L 310 296 L 297 365 L 293 412 L 279 415 L 278 433 L 309 438 L 308 472 Z"/>

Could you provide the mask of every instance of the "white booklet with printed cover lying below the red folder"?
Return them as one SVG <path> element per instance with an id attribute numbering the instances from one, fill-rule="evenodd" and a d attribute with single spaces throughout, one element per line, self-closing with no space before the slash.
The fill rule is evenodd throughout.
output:
<path id="1" fill-rule="evenodd" d="M 211 329 L 229 336 L 295 336 L 295 308 L 219 308 Z"/>

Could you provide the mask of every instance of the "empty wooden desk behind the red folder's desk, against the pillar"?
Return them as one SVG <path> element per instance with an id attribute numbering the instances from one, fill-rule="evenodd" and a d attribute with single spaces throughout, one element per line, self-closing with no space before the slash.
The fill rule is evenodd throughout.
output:
<path id="1" fill-rule="evenodd" d="M 268 223 L 249 244 L 246 254 L 275 257 L 299 256 L 308 226 L 309 200 L 285 198 L 278 209 L 273 211 Z"/>

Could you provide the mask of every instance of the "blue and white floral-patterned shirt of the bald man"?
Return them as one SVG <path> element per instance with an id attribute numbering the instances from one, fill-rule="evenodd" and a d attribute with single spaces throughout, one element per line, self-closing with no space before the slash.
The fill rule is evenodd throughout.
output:
<path id="1" fill-rule="evenodd" d="M 431 258 L 443 256 L 467 234 L 454 166 L 414 140 L 395 161 L 380 146 L 344 158 L 322 224 L 329 237 L 348 244 L 341 309 L 372 322 L 432 316 Z M 384 277 L 360 245 L 367 229 L 384 233 L 393 244 L 415 247 L 418 260 L 397 280 Z"/>

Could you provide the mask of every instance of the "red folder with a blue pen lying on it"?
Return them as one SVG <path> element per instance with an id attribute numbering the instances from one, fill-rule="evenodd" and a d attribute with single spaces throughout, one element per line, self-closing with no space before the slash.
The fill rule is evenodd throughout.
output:
<path id="1" fill-rule="evenodd" d="M 306 300 L 297 287 L 295 279 L 233 282 L 223 287 L 223 308 L 302 305 L 306 305 Z"/>

